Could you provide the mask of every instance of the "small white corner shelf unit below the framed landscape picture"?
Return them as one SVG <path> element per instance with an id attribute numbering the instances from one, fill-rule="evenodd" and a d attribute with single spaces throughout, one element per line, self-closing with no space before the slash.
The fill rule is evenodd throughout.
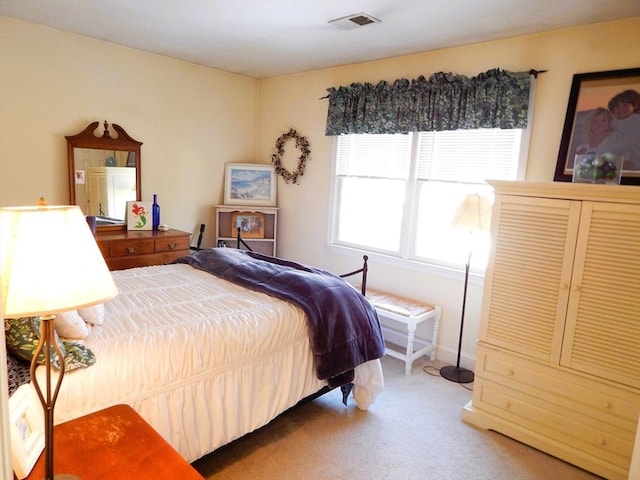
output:
<path id="1" fill-rule="evenodd" d="M 251 250 L 265 255 L 276 256 L 278 208 L 259 207 L 255 205 L 216 205 L 216 245 L 236 247 L 236 227 L 232 225 L 233 218 L 237 215 L 251 216 L 259 214 L 264 216 L 263 233 L 261 238 L 249 235 L 241 235 L 242 240 L 249 245 Z"/>

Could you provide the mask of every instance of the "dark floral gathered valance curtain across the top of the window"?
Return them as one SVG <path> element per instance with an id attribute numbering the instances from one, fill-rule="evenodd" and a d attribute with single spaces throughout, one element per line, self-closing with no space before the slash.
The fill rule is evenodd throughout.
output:
<path id="1" fill-rule="evenodd" d="M 332 87 L 325 134 L 526 128 L 531 77 L 493 69 Z"/>

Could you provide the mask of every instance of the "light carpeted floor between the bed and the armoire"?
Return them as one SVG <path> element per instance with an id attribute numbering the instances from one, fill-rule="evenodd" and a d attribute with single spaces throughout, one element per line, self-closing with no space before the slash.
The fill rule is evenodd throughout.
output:
<path id="1" fill-rule="evenodd" d="M 369 411 L 332 391 L 195 462 L 209 480 L 597 479 L 498 433 L 462 422 L 469 388 L 440 365 L 382 360 L 385 390 Z M 465 388 L 466 387 L 466 388 Z"/>

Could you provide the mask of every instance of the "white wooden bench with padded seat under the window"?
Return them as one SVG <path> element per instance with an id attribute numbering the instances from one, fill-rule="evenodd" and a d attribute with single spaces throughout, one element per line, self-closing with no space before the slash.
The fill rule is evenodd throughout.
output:
<path id="1" fill-rule="evenodd" d="M 411 375 L 413 362 L 423 355 L 429 355 L 431 360 L 436 358 L 438 348 L 438 330 L 442 308 L 438 305 L 418 302 L 409 298 L 392 295 L 372 288 L 366 289 L 366 297 L 378 312 L 378 316 L 389 318 L 407 327 L 407 348 L 404 352 L 387 345 L 386 354 L 404 361 L 405 375 Z M 425 320 L 433 320 L 433 338 L 424 347 L 415 350 L 413 342 L 416 327 Z"/>

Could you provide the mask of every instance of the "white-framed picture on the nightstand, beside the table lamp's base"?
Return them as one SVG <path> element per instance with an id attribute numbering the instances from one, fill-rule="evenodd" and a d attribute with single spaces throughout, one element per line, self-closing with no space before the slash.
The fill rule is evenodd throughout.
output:
<path id="1" fill-rule="evenodd" d="M 20 386 L 9 398 L 11 461 L 19 479 L 25 478 L 44 449 L 44 419 L 34 411 L 30 384 Z"/>

